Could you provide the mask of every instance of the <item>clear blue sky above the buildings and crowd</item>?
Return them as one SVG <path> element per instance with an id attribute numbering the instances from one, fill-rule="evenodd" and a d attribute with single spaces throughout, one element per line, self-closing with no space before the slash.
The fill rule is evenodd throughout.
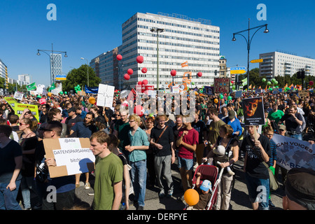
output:
<path id="1" fill-rule="evenodd" d="M 57 20 L 48 21 L 46 7 L 54 3 Z M 257 20 L 259 3 L 267 7 L 267 20 Z M 189 18 L 211 20 L 221 28 L 221 55 L 228 66 L 246 66 L 246 41 L 232 34 L 268 24 L 269 34 L 260 29 L 251 43 L 250 59 L 262 52 L 283 50 L 315 58 L 315 1 L 59 1 L 1 0 L 0 58 L 8 66 L 8 76 L 29 73 L 36 84 L 50 84 L 49 57 L 36 55 L 37 49 L 66 51 L 63 72 L 68 73 L 102 52 L 122 43 L 121 25 L 135 13 L 177 13 Z M 250 64 L 250 69 L 258 64 Z"/>

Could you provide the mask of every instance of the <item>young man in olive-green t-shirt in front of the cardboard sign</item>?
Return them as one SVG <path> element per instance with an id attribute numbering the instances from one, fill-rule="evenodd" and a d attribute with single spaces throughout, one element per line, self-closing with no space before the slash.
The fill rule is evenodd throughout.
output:
<path id="1" fill-rule="evenodd" d="M 94 132 L 90 137 L 95 160 L 94 210 L 118 210 L 123 197 L 123 162 L 109 151 L 110 137 Z"/>

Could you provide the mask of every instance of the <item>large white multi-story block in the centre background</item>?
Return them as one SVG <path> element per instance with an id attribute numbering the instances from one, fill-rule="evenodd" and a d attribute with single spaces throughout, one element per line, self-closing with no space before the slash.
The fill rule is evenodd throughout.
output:
<path id="1" fill-rule="evenodd" d="M 157 29 L 162 32 L 157 33 Z M 220 28 L 211 25 L 209 20 L 196 20 L 178 14 L 136 13 L 123 23 L 122 32 L 123 43 L 116 49 L 123 59 L 113 67 L 107 65 L 111 73 L 102 72 L 101 55 L 98 56 L 102 83 L 113 80 L 114 74 L 118 77 L 118 85 L 119 81 L 123 82 L 120 83 L 122 88 L 145 79 L 148 85 L 157 87 L 159 74 L 159 87 L 167 87 L 172 82 L 172 70 L 176 70 L 176 83 L 181 83 L 184 73 L 186 76 L 191 73 L 197 87 L 214 82 L 215 70 L 219 71 Z M 106 52 L 104 55 L 116 60 L 114 53 Z M 136 61 L 139 55 L 144 57 L 141 64 Z M 97 57 L 92 59 L 90 66 L 97 72 L 95 60 Z M 141 71 L 144 67 L 146 73 Z M 128 69 L 132 69 L 133 74 L 130 80 L 125 80 L 123 75 Z M 198 72 L 202 72 L 201 78 L 197 78 Z"/>

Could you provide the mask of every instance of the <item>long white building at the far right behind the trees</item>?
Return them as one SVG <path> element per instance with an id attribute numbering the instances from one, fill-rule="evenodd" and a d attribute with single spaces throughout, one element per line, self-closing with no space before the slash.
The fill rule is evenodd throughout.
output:
<path id="1" fill-rule="evenodd" d="M 293 76 L 300 69 L 304 69 L 305 76 L 315 76 L 315 59 L 300 57 L 286 52 L 268 52 L 259 55 L 263 62 L 259 65 L 260 76 L 268 80 L 276 76 Z"/>

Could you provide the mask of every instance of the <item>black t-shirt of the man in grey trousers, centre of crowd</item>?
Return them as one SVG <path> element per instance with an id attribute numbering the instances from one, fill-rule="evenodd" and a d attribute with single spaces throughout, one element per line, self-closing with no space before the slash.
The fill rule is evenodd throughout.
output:
<path id="1" fill-rule="evenodd" d="M 164 130 L 164 128 L 160 129 L 158 127 L 153 127 L 151 130 L 151 139 L 154 139 L 154 141 L 157 141 L 160 137 L 160 140 L 158 141 L 158 144 L 163 146 L 161 150 L 156 149 L 155 155 L 157 156 L 166 156 L 166 155 L 172 155 L 172 148 L 171 148 L 171 142 L 174 142 L 174 134 L 171 127 L 165 126 L 167 129 L 160 137 L 160 134 Z"/>

